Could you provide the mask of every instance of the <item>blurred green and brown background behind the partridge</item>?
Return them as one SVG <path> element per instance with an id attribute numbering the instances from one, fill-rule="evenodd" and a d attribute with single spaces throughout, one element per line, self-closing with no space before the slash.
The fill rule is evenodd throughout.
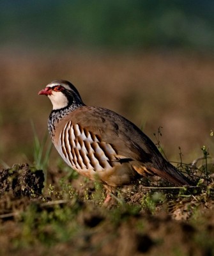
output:
<path id="1" fill-rule="evenodd" d="M 197 3 L 190 11 L 185 1 L 166 1 L 154 10 L 151 1 L 126 1 L 126 12 L 119 0 L 98 7 L 20 2 L 0 6 L 2 166 L 33 163 L 31 120 L 42 140 L 52 108 L 38 91 L 54 79 L 71 81 L 86 104 L 125 116 L 155 143 L 162 126 L 160 142 L 171 161 L 179 161 L 178 147 L 186 163 L 202 156 L 203 145 L 213 154 L 213 5 L 205 1 L 201 10 Z M 146 10 L 156 14 L 145 18 Z M 52 150 L 50 164 L 55 156 Z"/>

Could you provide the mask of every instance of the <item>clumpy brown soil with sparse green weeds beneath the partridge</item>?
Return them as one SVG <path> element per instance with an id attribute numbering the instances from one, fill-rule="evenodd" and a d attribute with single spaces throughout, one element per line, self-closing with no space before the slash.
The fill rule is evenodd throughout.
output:
<path id="1" fill-rule="evenodd" d="M 1 255 L 214 255 L 214 184 L 180 195 L 127 186 L 103 205 L 82 177 L 50 172 L 43 189 L 28 164 L 0 174 Z"/>

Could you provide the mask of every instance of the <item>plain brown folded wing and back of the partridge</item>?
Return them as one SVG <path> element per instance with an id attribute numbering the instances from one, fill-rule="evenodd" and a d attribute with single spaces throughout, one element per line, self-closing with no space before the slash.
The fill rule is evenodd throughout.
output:
<path id="1" fill-rule="evenodd" d="M 123 158 L 152 163 L 154 155 L 162 157 L 157 147 L 139 128 L 108 109 L 84 106 L 66 118 L 100 136 Z"/>

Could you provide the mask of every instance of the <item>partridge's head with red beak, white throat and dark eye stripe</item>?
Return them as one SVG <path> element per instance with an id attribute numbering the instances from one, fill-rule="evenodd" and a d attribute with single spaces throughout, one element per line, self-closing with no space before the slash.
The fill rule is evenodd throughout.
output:
<path id="1" fill-rule="evenodd" d="M 75 86 L 65 80 L 52 81 L 38 94 L 49 97 L 53 110 L 67 108 L 71 105 L 84 105 Z"/>

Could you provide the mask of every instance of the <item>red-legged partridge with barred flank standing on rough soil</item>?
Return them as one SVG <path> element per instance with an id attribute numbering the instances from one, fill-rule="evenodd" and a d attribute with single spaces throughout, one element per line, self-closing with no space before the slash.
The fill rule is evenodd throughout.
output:
<path id="1" fill-rule="evenodd" d="M 48 129 L 59 155 L 80 175 L 102 183 L 106 202 L 117 187 L 150 175 L 193 185 L 141 129 L 114 111 L 86 106 L 72 83 L 54 80 L 38 94 L 52 102 Z"/>

